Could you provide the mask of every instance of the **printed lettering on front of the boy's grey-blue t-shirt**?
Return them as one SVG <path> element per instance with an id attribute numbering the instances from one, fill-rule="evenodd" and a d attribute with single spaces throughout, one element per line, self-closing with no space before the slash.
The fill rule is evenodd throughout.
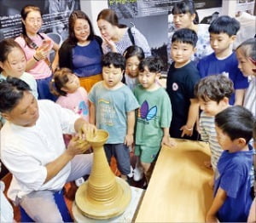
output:
<path id="1" fill-rule="evenodd" d="M 98 109 L 100 113 L 100 122 L 103 125 L 113 126 L 114 117 L 116 116 L 111 101 L 105 99 L 98 100 Z"/>

